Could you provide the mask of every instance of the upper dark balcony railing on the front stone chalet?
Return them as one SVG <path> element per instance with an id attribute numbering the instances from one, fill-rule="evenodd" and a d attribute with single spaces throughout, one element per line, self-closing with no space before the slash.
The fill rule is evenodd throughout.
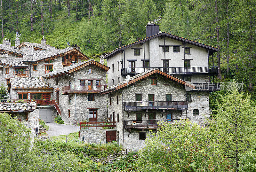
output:
<path id="1" fill-rule="evenodd" d="M 124 102 L 125 111 L 136 110 L 180 110 L 188 109 L 188 101 Z"/>

